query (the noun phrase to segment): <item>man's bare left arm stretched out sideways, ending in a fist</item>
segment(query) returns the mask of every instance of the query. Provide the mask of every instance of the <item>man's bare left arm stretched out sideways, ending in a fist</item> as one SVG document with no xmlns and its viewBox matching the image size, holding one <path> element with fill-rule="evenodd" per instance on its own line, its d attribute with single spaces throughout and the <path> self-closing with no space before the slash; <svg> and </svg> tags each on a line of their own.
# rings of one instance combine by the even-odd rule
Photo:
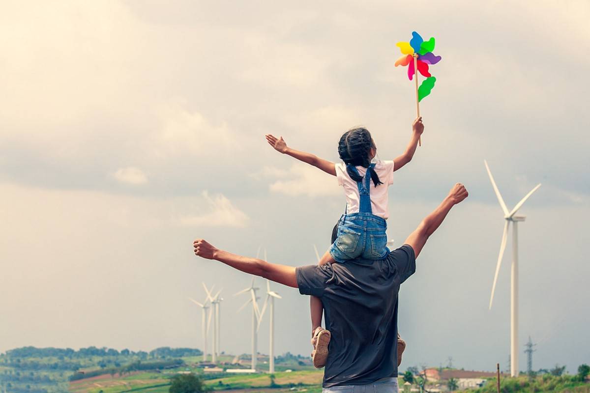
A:
<svg viewBox="0 0 590 393">
<path fill-rule="evenodd" d="M 195 249 L 195 255 L 200 257 L 215 259 L 244 273 L 260 276 L 283 285 L 297 288 L 297 278 L 293 266 L 277 265 L 276 263 L 268 263 L 262 259 L 235 255 L 224 250 L 219 250 L 203 239 L 196 239 L 193 242 L 193 247 Z"/>
</svg>

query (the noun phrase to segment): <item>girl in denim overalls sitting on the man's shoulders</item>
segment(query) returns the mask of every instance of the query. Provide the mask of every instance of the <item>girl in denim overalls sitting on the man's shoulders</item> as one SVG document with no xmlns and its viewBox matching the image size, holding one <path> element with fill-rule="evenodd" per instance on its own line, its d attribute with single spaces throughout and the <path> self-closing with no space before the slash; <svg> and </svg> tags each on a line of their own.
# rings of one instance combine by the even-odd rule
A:
<svg viewBox="0 0 590 393">
<path fill-rule="evenodd" d="M 386 219 L 389 217 L 387 187 L 392 184 L 394 171 L 414 157 L 418 139 L 424 132 L 422 118 L 412 124 L 412 138 L 401 156 L 393 161 L 371 163 L 377 153 L 375 141 L 365 128 L 353 128 L 340 137 L 338 154 L 343 164 L 323 160 L 310 153 L 287 147 L 283 137 L 268 134 L 266 140 L 275 150 L 297 160 L 311 164 L 326 173 L 336 176 L 346 196 L 345 214 L 340 217 L 337 237 L 319 264 L 344 263 L 361 257 L 383 259 L 389 254 L 387 247 Z M 313 364 L 323 367 L 327 359 L 327 344 L 330 332 L 322 328 L 322 301 L 310 298 L 312 315 Z M 405 344 L 405 343 L 404 343 Z M 404 345 L 405 346 L 405 345 Z M 401 353 L 398 353 L 398 361 Z"/>
</svg>

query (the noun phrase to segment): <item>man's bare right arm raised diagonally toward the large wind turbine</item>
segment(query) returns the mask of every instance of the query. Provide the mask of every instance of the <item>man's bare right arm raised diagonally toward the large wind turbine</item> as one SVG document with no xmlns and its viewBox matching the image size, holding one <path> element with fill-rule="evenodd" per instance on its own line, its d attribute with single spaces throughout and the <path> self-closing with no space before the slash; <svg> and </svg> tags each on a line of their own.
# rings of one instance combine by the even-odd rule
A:
<svg viewBox="0 0 590 393">
<path fill-rule="evenodd" d="M 428 216 L 418 225 L 416 230 L 408 236 L 405 244 L 412 246 L 416 258 L 422 251 L 422 247 L 426 244 L 428 237 L 437 230 L 445 217 L 447 217 L 451 207 L 466 199 L 468 195 L 469 194 L 463 184 L 455 184 L 451 191 L 449 191 L 447 197 L 442 200 L 442 203 L 438 205 L 434 212 L 428 214 Z"/>
</svg>

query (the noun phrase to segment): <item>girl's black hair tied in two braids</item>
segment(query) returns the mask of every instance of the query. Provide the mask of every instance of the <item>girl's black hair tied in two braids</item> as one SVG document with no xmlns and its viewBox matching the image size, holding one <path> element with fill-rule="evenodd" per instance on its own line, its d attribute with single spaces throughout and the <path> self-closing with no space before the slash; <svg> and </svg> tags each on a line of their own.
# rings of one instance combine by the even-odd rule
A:
<svg viewBox="0 0 590 393">
<path fill-rule="evenodd" d="M 354 181 L 363 180 L 362 176 L 359 176 L 350 168 L 350 165 L 355 167 L 362 166 L 368 169 L 371 174 L 371 180 L 373 180 L 373 184 L 377 187 L 379 184 L 383 184 L 383 182 L 379 180 L 379 176 L 377 176 L 375 170 L 369 167 L 371 165 L 369 153 L 373 147 L 375 147 L 375 143 L 373 142 L 371 133 L 366 128 L 353 128 L 352 130 L 346 131 L 340 137 L 338 154 L 340 155 L 340 159 L 346 164 L 346 173 L 348 173 L 350 179 Z"/>
</svg>

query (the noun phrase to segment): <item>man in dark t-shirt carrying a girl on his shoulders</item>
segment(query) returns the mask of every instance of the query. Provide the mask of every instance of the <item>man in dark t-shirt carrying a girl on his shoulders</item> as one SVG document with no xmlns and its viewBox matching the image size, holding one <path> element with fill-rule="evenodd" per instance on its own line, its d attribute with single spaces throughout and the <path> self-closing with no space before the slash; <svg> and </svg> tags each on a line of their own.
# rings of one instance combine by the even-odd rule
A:
<svg viewBox="0 0 590 393">
<path fill-rule="evenodd" d="M 415 272 L 415 259 L 451 208 L 466 199 L 457 183 L 442 203 L 383 260 L 292 267 L 219 250 L 203 239 L 195 254 L 235 269 L 299 288 L 322 299 L 326 329 L 332 332 L 324 371 L 324 393 L 396 393 L 399 285 Z"/>
</svg>

